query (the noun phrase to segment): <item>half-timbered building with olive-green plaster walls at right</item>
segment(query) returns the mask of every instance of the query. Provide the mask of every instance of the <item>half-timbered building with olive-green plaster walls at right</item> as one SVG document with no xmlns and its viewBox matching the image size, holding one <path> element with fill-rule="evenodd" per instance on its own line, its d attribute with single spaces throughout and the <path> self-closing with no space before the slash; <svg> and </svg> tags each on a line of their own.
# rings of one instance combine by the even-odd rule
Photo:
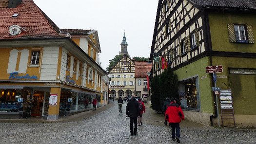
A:
<svg viewBox="0 0 256 144">
<path fill-rule="evenodd" d="M 255 5 L 254 0 L 159 0 L 152 74 L 163 71 L 157 55 L 166 57 L 177 73 L 187 119 L 215 126 L 256 126 Z M 206 71 L 208 66 L 222 70 Z M 220 91 L 215 93 L 213 87 Z"/>
</svg>

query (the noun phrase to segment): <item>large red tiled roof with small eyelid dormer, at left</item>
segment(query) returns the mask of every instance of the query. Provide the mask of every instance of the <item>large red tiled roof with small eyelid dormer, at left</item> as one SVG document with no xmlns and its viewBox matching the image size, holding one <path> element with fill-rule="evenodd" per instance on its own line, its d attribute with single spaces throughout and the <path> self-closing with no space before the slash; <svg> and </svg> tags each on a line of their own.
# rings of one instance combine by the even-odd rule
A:
<svg viewBox="0 0 256 144">
<path fill-rule="evenodd" d="M 18 17 L 12 17 L 19 14 Z M 48 18 L 33 0 L 22 0 L 16 8 L 0 7 L 0 39 L 63 37 L 59 27 Z M 10 36 L 9 27 L 19 25 L 25 31 Z"/>
</svg>

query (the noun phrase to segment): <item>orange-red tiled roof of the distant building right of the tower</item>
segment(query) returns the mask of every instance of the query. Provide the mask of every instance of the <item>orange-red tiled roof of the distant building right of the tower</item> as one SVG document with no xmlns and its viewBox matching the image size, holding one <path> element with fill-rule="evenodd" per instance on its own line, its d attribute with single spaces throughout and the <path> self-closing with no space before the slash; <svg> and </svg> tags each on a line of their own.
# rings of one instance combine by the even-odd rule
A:
<svg viewBox="0 0 256 144">
<path fill-rule="evenodd" d="M 146 61 L 135 61 L 135 78 L 147 77 L 147 72 L 151 71 L 152 65 Z"/>
</svg>

